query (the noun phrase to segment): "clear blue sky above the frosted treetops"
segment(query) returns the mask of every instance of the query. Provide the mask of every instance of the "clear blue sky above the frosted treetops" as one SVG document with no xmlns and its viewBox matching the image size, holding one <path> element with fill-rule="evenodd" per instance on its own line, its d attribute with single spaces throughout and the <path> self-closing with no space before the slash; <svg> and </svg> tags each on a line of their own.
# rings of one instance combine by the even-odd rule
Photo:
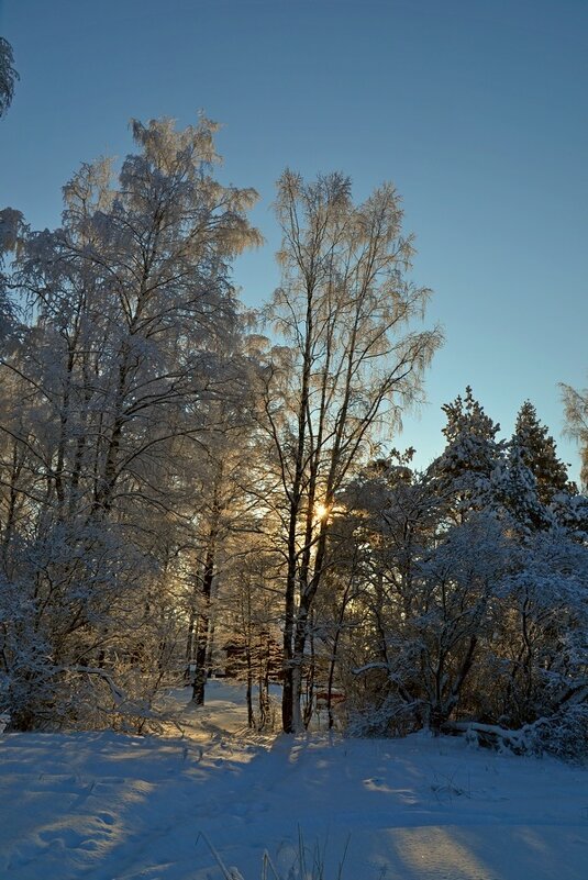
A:
<svg viewBox="0 0 588 880">
<path fill-rule="evenodd" d="M 588 370 L 588 0 L 0 0 L 21 75 L 0 122 L 0 208 L 59 222 L 81 163 L 131 148 L 129 120 L 224 124 L 225 182 L 260 194 L 267 246 L 241 258 L 248 304 L 277 283 L 274 182 L 384 180 L 417 234 L 446 343 L 397 445 L 441 452 L 467 383 L 510 433 L 525 399 L 562 436 L 557 383 Z"/>
</svg>

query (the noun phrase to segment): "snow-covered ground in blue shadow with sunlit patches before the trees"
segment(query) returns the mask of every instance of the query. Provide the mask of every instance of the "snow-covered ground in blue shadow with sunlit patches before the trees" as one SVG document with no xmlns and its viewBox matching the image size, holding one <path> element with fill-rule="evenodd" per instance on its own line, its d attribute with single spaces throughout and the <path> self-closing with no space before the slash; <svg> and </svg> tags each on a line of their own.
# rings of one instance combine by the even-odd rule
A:
<svg viewBox="0 0 588 880">
<path fill-rule="evenodd" d="M 214 681 L 178 721 L 0 736 L 2 880 L 220 880 L 207 840 L 245 880 L 264 849 L 298 877 L 299 831 L 324 880 L 347 838 L 344 880 L 588 878 L 587 770 L 426 736 L 255 738 L 242 689 Z"/>
</svg>

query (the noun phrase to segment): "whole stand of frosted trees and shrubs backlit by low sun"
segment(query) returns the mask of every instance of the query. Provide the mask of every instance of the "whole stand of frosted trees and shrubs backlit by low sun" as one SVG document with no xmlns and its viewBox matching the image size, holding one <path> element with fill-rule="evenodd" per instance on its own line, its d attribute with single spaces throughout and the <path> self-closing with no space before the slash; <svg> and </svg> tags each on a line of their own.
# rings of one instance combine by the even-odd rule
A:
<svg viewBox="0 0 588 880">
<path fill-rule="evenodd" d="M 395 187 L 285 170 L 254 312 L 257 194 L 219 182 L 217 127 L 135 121 L 59 229 L 0 212 L 7 729 L 157 731 L 159 693 L 204 704 L 231 656 L 256 729 L 320 704 L 357 736 L 588 755 L 588 498 L 548 427 L 521 401 L 502 437 L 464 365 L 417 469 L 402 415 L 443 332 Z M 563 405 L 585 488 L 588 392 Z"/>
</svg>

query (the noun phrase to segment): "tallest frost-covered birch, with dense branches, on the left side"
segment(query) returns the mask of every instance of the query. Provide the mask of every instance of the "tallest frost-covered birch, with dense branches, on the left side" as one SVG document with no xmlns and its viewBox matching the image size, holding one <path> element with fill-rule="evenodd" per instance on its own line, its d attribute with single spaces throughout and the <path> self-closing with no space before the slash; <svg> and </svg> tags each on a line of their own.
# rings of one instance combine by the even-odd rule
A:
<svg viewBox="0 0 588 880">
<path fill-rule="evenodd" d="M 1 361 L 20 401 L 1 424 L 14 725 L 104 723 L 96 706 L 121 709 L 123 692 L 144 704 L 180 637 L 195 468 L 237 372 L 230 263 L 257 241 L 255 193 L 212 174 L 214 131 L 135 122 L 137 152 L 118 174 L 84 165 L 62 227 L 21 229 L 3 276 L 30 310 Z"/>
</svg>

